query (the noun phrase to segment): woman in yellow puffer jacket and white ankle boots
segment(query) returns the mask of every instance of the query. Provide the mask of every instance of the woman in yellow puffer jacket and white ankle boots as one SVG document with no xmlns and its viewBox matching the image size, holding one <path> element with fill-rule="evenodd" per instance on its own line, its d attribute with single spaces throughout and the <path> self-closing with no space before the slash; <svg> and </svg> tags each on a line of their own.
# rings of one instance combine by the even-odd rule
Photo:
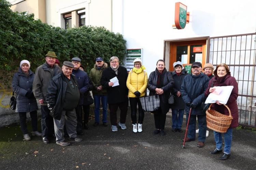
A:
<svg viewBox="0 0 256 170">
<path fill-rule="evenodd" d="M 142 132 L 142 123 L 144 119 L 144 111 L 141 106 L 139 97 L 145 95 L 147 88 L 147 73 L 144 71 L 146 68 L 142 66 L 139 58 L 133 61 L 133 69 L 129 72 L 126 81 L 126 86 L 129 89 L 129 101 L 131 106 L 131 120 L 133 125 L 133 132 Z M 139 120 L 137 126 L 137 104 L 139 106 Z M 138 128 L 138 129 L 137 129 Z"/>
</svg>

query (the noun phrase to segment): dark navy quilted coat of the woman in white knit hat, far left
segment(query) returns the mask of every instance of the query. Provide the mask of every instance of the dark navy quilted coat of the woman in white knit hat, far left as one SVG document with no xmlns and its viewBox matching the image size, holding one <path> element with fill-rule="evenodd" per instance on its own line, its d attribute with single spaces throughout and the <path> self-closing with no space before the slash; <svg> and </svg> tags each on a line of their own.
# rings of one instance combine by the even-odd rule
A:
<svg viewBox="0 0 256 170">
<path fill-rule="evenodd" d="M 37 100 L 32 91 L 33 80 L 34 73 L 30 69 L 28 78 L 24 75 L 21 68 L 14 74 L 12 89 L 18 95 L 15 112 L 32 112 L 38 110 Z M 29 98 L 25 95 L 29 96 Z"/>
</svg>

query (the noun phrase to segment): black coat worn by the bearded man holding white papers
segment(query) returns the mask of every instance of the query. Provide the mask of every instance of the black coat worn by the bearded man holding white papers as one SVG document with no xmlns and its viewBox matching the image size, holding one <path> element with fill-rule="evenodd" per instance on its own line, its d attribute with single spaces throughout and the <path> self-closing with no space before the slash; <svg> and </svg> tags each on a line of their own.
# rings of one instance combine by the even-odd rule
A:
<svg viewBox="0 0 256 170">
<path fill-rule="evenodd" d="M 110 79 L 117 77 L 119 86 L 109 87 Z M 102 71 L 100 84 L 107 89 L 108 103 L 115 104 L 128 101 L 128 88 L 126 86 L 128 73 L 127 69 L 119 65 L 118 73 L 114 72 L 111 67 Z"/>
</svg>

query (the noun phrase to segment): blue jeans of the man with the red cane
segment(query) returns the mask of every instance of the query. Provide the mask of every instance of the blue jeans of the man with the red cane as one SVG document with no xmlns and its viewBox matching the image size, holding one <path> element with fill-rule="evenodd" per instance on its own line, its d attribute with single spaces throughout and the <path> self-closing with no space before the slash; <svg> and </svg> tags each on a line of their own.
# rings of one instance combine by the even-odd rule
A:
<svg viewBox="0 0 256 170">
<path fill-rule="evenodd" d="M 187 118 L 188 118 L 188 113 L 187 113 Z M 187 137 L 190 139 L 195 139 L 196 138 L 196 119 L 198 121 L 198 128 L 199 128 L 199 133 L 198 133 L 198 141 L 199 142 L 204 142 L 206 139 L 206 115 L 190 115 L 189 118 L 189 124 L 188 124 L 188 135 Z"/>
</svg>

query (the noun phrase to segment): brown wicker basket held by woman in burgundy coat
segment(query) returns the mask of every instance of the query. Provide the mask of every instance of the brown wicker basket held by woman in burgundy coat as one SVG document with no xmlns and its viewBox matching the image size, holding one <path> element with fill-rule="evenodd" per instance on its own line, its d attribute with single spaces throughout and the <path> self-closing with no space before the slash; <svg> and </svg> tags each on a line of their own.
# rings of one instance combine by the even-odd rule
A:
<svg viewBox="0 0 256 170">
<path fill-rule="evenodd" d="M 224 104 L 224 106 L 227 107 L 229 111 L 229 116 L 223 115 L 217 111 L 212 110 L 212 104 L 206 111 L 207 127 L 219 133 L 226 133 L 233 119 L 230 109 Z"/>
</svg>

